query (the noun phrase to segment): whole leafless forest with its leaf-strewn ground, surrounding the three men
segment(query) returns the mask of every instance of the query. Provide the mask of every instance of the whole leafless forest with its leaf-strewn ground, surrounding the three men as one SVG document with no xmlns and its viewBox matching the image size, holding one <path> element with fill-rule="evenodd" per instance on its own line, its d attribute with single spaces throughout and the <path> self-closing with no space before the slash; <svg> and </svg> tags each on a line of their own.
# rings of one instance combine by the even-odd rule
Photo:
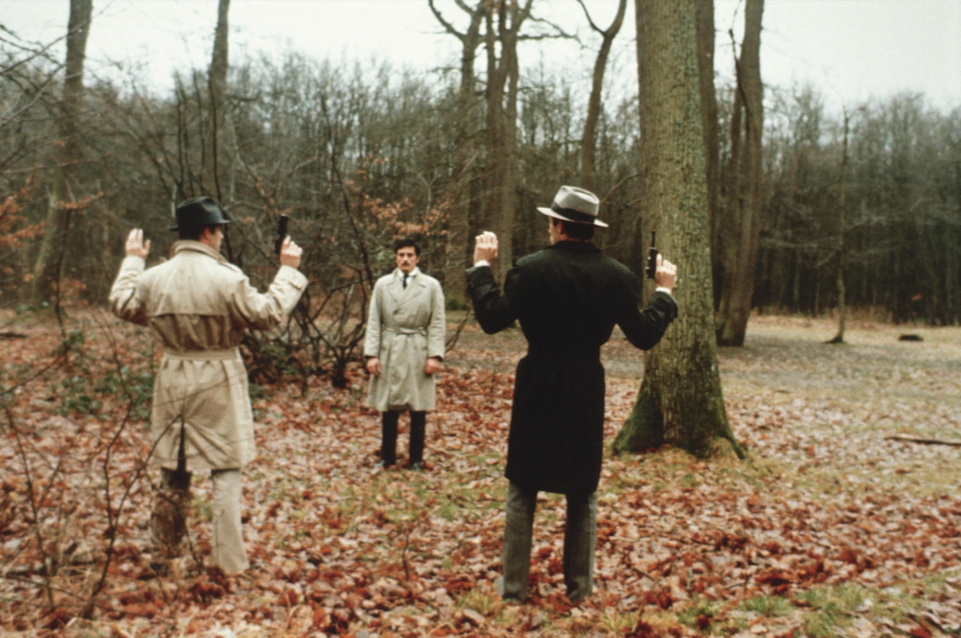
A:
<svg viewBox="0 0 961 638">
<path fill-rule="evenodd" d="M 745 2 L 729 84 L 715 79 L 715 39 L 728 36 L 712 0 L 619 0 L 609 24 L 585 9 L 589 84 L 521 57 L 520 42 L 573 37 L 545 0 L 422 1 L 458 43 L 453 68 L 232 57 L 219 0 L 209 65 L 178 71 L 168 94 L 136 74 L 85 74 L 92 0 L 70 0 L 57 41 L 0 31 L 0 457 L 15 468 L 0 482 L 0 626 L 654 636 L 758 634 L 762 619 L 771 635 L 884 625 L 920 637 L 961 626 L 961 585 L 945 576 L 961 559 L 961 504 L 946 487 L 956 472 L 938 469 L 956 466 L 956 441 L 882 437 L 956 438 L 961 423 L 957 329 L 942 328 L 961 323 L 961 109 L 897 94 L 831 111 L 818 86 L 765 86 L 763 0 Z M 635 19 L 641 90 L 610 97 L 611 43 Z M 523 344 L 513 331 L 482 340 L 464 268 L 481 230 L 501 237 L 502 277 L 542 248 L 533 209 L 559 184 L 598 193 L 611 228 L 596 241 L 639 277 L 652 232 L 682 268 L 685 314 L 644 360 L 641 400 L 639 355 L 616 340 L 605 350 L 605 440 L 616 447 L 621 424 L 643 421 L 645 388 L 689 397 L 690 411 L 625 447 L 658 454 L 606 461 L 604 595 L 572 611 L 544 537 L 537 600 L 505 608 L 492 584 L 499 470 Z M 223 252 L 261 289 L 289 215 L 309 278 L 286 326 L 244 341 L 269 425 L 244 495 L 247 579 L 205 568 L 204 496 L 194 562 L 169 578 L 147 569 L 142 426 L 156 356 L 103 308 L 129 230 L 163 258 L 173 207 L 199 195 L 228 210 Z M 369 293 L 402 236 L 422 241 L 455 320 L 429 443 L 437 467 L 411 481 L 372 474 L 375 416 L 358 399 Z M 784 314 L 795 316 L 759 316 Z M 849 316 L 854 345 L 826 346 L 831 333 L 846 341 Z M 754 347 L 738 348 L 749 320 Z M 927 343 L 898 343 L 905 323 Z M 732 348 L 719 358 L 716 345 Z M 718 437 L 746 461 L 702 454 Z M 695 515 L 700 530 L 675 528 Z"/>
</svg>

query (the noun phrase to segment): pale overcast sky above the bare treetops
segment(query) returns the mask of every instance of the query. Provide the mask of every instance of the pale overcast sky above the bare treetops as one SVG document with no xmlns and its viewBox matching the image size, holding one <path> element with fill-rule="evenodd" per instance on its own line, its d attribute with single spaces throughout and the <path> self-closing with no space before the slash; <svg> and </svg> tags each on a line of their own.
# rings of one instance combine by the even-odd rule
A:
<svg viewBox="0 0 961 638">
<path fill-rule="evenodd" d="M 445 16 L 462 24 L 452 0 L 437 0 Z M 614 0 L 587 0 L 595 22 L 606 27 Z M 731 75 L 727 31 L 740 38 L 743 2 L 715 0 L 717 69 Z M 171 73 L 209 63 L 216 0 L 94 0 L 87 70 L 115 73 L 114 63 L 146 71 L 155 90 L 171 86 Z M 62 35 L 68 0 L 0 0 L 0 24 L 18 36 L 47 41 Z M 575 0 L 539 0 L 535 14 L 579 32 L 591 49 L 573 42 L 529 43 L 527 68 L 588 78 L 591 38 Z M 613 77 L 636 89 L 633 3 L 615 44 Z M 767 85 L 809 82 L 839 109 L 869 97 L 923 92 L 942 110 L 961 106 L 961 1 L 768 0 L 761 36 L 761 75 Z M 377 58 L 401 68 L 456 66 L 459 42 L 443 34 L 427 0 L 234 0 L 230 13 L 231 60 L 293 50 L 334 60 Z M 482 52 L 481 52 L 482 56 Z M 62 58 L 62 53 L 59 54 Z M 482 59 L 478 63 L 483 68 Z"/>
</svg>

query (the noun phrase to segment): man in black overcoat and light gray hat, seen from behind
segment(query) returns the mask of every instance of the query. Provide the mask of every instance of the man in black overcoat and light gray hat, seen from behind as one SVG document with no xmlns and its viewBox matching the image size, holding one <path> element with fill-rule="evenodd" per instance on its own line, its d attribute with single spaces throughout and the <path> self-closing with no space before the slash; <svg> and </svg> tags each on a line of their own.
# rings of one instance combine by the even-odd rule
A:
<svg viewBox="0 0 961 638">
<path fill-rule="evenodd" d="M 550 209 L 551 245 L 521 258 L 506 275 L 504 294 L 490 269 L 497 236 L 481 233 L 467 271 L 474 313 L 493 334 L 520 320 L 528 354 L 517 365 L 507 438 L 505 600 L 523 601 L 530 573 L 530 537 L 537 492 L 567 497 L 564 583 L 571 601 L 593 589 L 597 488 L 604 452 L 604 366 L 601 346 L 614 324 L 630 343 L 653 348 L 678 314 L 671 295 L 676 268 L 658 256 L 651 303 L 638 308 L 640 283 L 624 264 L 590 242 L 607 225 L 598 198 L 561 186 Z"/>
</svg>

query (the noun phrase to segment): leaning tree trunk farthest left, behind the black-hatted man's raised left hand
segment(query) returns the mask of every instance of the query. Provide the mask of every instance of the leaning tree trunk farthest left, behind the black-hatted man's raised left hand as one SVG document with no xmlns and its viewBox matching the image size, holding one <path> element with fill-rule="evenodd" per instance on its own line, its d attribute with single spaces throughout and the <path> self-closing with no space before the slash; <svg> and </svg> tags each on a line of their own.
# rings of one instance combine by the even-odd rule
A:
<svg viewBox="0 0 961 638">
<path fill-rule="evenodd" d="M 34 274 L 31 280 L 31 303 L 37 305 L 43 296 L 52 276 L 51 256 L 58 237 L 66 233 L 70 221 L 70 209 L 64 202 L 77 197 L 77 165 L 81 159 L 80 118 L 84 103 L 84 61 L 86 59 L 86 37 L 90 33 L 90 18 L 93 13 L 93 0 L 70 0 L 70 17 L 67 22 L 66 37 L 66 77 L 63 80 L 63 100 L 61 104 L 61 152 L 54 189 L 50 192 L 47 214 L 43 223 L 43 237 L 34 261 Z M 62 259 L 58 260 L 62 264 Z"/>
</svg>

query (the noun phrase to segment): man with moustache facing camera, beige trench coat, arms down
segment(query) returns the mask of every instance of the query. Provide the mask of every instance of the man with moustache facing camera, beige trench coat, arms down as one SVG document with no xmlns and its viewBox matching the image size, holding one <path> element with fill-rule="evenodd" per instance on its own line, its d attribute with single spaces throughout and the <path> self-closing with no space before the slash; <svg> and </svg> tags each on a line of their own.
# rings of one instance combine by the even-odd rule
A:
<svg viewBox="0 0 961 638">
<path fill-rule="evenodd" d="M 397 462 L 397 421 L 410 410 L 409 467 L 421 469 L 427 412 L 434 407 L 434 373 L 444 358 L 444 291 L 417 268 L 420 246 L 394 244 L 397 269 L 374 284 L 364 356 L 370 372 L 367 405 L 381 410 L 381 462 Z"/>
</svg>

